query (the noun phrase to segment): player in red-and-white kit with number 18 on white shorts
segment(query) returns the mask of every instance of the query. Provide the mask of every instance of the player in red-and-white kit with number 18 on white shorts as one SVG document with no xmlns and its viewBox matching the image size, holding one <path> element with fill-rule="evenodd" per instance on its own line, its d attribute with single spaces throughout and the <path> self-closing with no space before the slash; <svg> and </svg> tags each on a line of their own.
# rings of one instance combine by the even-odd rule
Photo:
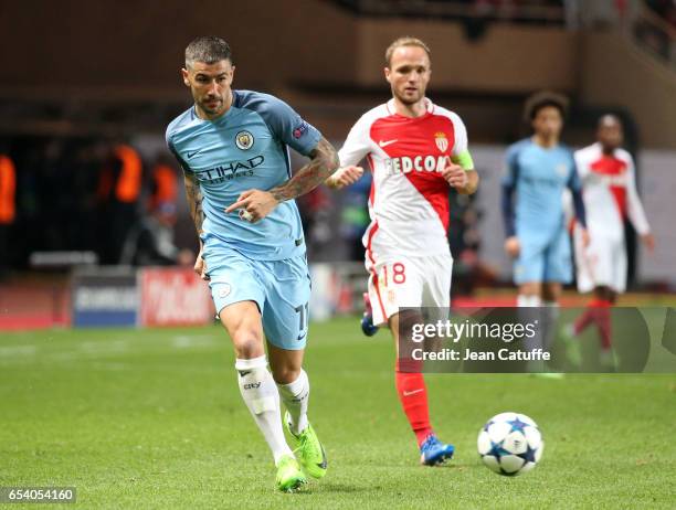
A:
<svg viewBox="0 0 676 510">
<path fill-rule="evenodd" d="M 463 121 L 425 97 L 430 75 L 424 42 L 402 38 L 388 47 L 384 76 L 392 98 L 355 124 L 338 152 L 341 169 L 327 180 L 341 188 L 361 177 L 363 170 L 355 164 L 362 158 L 371 167 L 371 224 L 363 244 L 372 322 L 389 326 L 397 349 L 400 320 L 406 319 L 400 319 L 400 308 L 450 307 L 448 188 L 468 194 L 478 184 Z M 440 464 L 453 456 L 454 447 L 440 442 L 430 425 L 422 374 L 409 373 L 411 366 L 401 361 L 398 357 L 397 392 L 421 463 Z"/>
</svg>

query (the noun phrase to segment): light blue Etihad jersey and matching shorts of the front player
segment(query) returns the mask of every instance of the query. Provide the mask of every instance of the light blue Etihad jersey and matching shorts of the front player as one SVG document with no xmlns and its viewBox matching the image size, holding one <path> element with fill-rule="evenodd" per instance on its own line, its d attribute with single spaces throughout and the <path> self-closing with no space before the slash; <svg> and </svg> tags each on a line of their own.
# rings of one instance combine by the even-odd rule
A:
<svg viewBox="0 0 676 510">
<path fill-rule="evenodd" d="M 288 147 L 308 156 L 321 135 L 286 103 L 256 92 L 233 91 L 233 104 L 215 120 L 194 107 L 167 128 L 167 145 L 183 170 L 197 177 L 204 222 L 202 258 L 216 311 L 253 301 L 270 342 L 304 349 L 310 280 L 295 201 L 279 203 L 256 223 L 225 209 L 243 191 L 270 190 L 291 178 Z"/>
</svg>

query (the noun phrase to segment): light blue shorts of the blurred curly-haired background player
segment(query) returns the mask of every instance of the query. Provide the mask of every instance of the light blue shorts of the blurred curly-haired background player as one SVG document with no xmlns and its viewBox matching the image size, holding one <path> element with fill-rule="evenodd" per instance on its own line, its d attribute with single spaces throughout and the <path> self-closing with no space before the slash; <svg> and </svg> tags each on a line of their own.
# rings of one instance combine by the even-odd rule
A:
<svg viewBox="0 0 676 510">
<path fill-rule="evenodd" d="M 519 256 L 514 264 L 514 283 L 553 281 L 569 284 L 572 280 L 570 238 L 564 229 L 553 236 L 540 232 L 519 230 Z"/>
</svg>

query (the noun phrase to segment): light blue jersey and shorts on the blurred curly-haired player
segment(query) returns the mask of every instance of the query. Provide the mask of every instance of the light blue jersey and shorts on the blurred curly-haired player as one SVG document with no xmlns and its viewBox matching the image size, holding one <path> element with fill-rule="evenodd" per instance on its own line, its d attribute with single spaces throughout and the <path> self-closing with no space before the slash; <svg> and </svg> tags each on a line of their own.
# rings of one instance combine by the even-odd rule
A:
<svg viewBox="0 0 676 510">
<path fill-rule="evenodd" d="M 509 147 L 503 214 L 507 235 L 516 235 L 520 245 L 514 266 L 516 284 L 571 280 L 570 240 L 563 214 L 566 188 L 580 199 L 581 185 L 570 149 L 561 145 L 543 148 L 529 138 Z M 578 216 L 583 221 L 582 209 Z"/>
</svg>

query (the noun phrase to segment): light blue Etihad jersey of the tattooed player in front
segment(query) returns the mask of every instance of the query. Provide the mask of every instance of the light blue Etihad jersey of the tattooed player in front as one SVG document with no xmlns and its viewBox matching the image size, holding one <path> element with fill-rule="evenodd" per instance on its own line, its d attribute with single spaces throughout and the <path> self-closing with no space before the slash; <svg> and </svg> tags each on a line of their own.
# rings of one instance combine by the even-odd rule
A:
<svg viewBox="0 0 676 510">
<path fill-rule="evenodd" d="M 233 104 L 215 120 L 194 107 L 167 128 L 167 146 L 183 171 L 197 176 L 202 191 L 203 241 L 215 237 L 226 247 L 258 261 L 305 254 L 295 201 L 279 203 L 266 217 L 250 223 L 225 208 L 243 191 L 270 190 L 291 178 L 288 147 L 308 156 L 321 135 L 274 96 L 233 91 Z"/>
</svg>

